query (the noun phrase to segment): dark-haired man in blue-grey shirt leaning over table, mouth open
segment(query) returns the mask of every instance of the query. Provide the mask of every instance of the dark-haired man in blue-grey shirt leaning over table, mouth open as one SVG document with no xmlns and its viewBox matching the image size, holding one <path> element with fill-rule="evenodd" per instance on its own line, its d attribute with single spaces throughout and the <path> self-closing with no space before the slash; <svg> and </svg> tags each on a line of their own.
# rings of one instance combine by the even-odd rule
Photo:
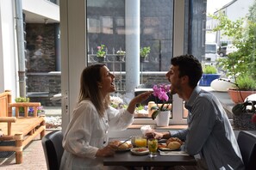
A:
<svg viewBox="0 0 256 170">
<path fill-rule="evenodd" d="M 219 100 L 197 86 L 202 65 L 192 55 L 172 58 L 166 78 L 171 93 L 185 101 L 189 111 L 188 128 L 181 131 L 153 132 L 147 137 L 178 137 L 185 141 L 184 150 L 195 155 L 201 169 L 244 169 L 240 149 L 226 112 Z"/>
</svg>

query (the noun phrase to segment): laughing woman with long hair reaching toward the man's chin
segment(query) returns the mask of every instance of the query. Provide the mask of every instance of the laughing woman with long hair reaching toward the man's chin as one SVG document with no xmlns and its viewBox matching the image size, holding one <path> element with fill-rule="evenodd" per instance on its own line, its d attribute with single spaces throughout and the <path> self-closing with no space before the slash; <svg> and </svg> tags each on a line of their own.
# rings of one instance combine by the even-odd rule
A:
<svg viewBox="0 0 256 170">
<path fill-rule="evenodd" d="M 115 154 L 108 131 L 125 130 L 133 122 L 136 104 L 151 92 L 136 96 L 127 110 L 109 106 L 109 94 L 116 91 L 115 76 L 104 64 L 85 68 L 80 80 L 78 104 L 72 113 L 63 139 L 65 149 L 60 169 L 107 169 L 102 157 Z"/>
</svg>

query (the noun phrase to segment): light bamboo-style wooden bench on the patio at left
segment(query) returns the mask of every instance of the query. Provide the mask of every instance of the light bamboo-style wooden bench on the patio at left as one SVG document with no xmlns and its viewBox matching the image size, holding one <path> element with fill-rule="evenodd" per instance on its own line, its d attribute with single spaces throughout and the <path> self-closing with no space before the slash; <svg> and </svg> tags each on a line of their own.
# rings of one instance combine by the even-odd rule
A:
<svg viewBox="0 0 256 170">
<path fill-rule="evenodd" d="M 6 90 L 0 94 L 0 129 L 2 141 L 15 141 L 15 146 L 0 146 L 1 151 L 15 151 L 16 163 L 22 163 L 22 151 L 34 137 L 45 136 L 46 123 L 44 116 L 37 116 L 37 107 L 40 102 L 11 103 L 11 93 Z M 16 108 L 16 116 L 12 116 L 12 108 Z M 24 107 L 24 116 L 20 115 L 19 108 Z M 28 108 L 33 107 L 34 113 L 28 116 Z"/>
</svg>

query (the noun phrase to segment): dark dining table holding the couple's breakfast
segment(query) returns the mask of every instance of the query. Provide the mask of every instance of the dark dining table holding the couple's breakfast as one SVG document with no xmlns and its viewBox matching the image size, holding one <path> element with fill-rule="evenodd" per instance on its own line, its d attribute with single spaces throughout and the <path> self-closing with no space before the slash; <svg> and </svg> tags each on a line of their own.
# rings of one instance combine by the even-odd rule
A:
<svg viewBox="0 0 256 170">
<path fill-rule="evenodd" d="M 165 152 L 163 152 L 163 154 L 165 154 Z M 126 150 L 116 152 L 114 156 L 103 158 L 103 165 L 123 167 L 174 167 L 196 166 L 197 161 L 194 156 L 186 154 L 160 155 L 158 151 L 157 156 L 151 158 L 147 154 L 134 155 L 130 150 Z"/>
</svg>

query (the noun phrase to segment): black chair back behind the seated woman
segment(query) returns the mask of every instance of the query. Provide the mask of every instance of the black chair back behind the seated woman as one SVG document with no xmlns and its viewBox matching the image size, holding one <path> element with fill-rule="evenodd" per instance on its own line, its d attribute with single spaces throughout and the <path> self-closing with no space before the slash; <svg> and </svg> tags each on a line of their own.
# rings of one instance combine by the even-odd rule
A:
<svg viewBox="0 0 256 170">
<path fill-rule="evenodd" d="M 49 170 L 59 169 L 64 151 L 64 148 L 62 147 L 62 139 L 62 131 L 52 131 L 41 139 L 47 161 L 47 169 Z"/>
</svg>

